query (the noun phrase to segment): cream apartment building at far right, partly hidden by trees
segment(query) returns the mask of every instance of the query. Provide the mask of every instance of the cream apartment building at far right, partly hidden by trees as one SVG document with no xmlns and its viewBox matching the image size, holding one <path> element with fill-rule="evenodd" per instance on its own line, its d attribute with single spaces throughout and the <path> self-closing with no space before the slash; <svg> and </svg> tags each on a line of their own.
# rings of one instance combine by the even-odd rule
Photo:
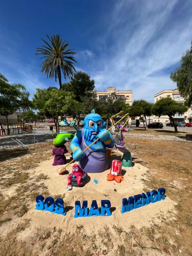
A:
<svg viewBox="0 0 192 256">
<path fill-rule="evenodd" d="M 172 100 L 175 100 L 176 102 L 180 104 L 184 104 L 185 99 L 181 96 L 180 92 L 178 89 L 174 90 L 163 90 L 161 92 L 158 92 L 157 94 L 154 95 L 154 103 L 157 100 L 160 100 L 161 98 L 172 98 Z M 192 106 L 188 108 L 187 112 L 184 114 L 176 114 L 173 116 L 175 122 L 192 122 Z M 170 122 L 168 116 L 153 116 L 153 122 L 162 122 L 162 123 L 167 123 Z"/>
</svg>

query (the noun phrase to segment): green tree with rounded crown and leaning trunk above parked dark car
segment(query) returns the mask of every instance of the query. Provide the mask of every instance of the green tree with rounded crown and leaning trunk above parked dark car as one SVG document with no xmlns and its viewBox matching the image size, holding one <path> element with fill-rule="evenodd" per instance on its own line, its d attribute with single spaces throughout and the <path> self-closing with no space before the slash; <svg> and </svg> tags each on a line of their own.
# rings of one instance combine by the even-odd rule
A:
<svg viewBox="0 0 192 256">
<path fill-rule="evenodd" d="M 178 132 L 177 126 L 174 122 L 173 116 L 175 114 L 184 114 L 187 111 L 187 107 L 172 100 L 171 98 L 161 98 L 152 107 L 152 114 L 156 116 L 168 116 L 173 123 L 175 132 Z"/>
</svg>

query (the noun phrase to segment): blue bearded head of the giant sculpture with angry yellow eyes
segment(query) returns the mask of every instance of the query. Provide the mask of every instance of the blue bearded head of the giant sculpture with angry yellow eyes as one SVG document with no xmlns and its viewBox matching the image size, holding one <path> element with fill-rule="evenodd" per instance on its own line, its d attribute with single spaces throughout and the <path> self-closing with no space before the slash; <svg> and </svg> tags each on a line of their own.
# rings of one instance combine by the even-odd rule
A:
<svg viewBox="0 0 192 256">
<path fill-rule="evenodd" d="M 98 138 L 97 134 L 104 129 L 101 116 L 92 110 L 91 114 L 85 117 L 84 122 L 84 139 L 90 142 L 95 141 Z"/>
</svg>

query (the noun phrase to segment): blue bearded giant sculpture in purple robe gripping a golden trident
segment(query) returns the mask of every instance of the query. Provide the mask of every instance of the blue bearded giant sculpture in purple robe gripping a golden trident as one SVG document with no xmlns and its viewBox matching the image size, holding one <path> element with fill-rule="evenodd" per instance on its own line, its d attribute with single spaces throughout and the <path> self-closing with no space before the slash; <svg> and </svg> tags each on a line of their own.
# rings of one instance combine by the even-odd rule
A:
<svg viewBox="0 0 192 256">
<path fill-rule="evenodd" d="M 95 114 L 94 110 L 84 118 L 84 123 L 84 127 L 75 134 L 70 143 L 73 159 L 79 161 L 80 168 L 85 172 L 104 172 L 108 168 L 106 147 L 114 147 L 113 137 L 105 129 L 101 116 Z M 83 152 L 98 138 L 98 141 Z"/>
</svg>

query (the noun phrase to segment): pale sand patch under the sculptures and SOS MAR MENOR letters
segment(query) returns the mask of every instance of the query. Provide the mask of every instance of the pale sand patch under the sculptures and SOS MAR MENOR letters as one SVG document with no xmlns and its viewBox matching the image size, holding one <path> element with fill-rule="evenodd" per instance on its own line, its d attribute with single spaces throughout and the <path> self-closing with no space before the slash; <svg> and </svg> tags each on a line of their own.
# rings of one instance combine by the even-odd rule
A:
<svg viewBox="0 0 192 256">
<path fill-rule="evenodd" d="M 118 156 L 120 156 L 121 153 L 114 151 L 114 154 L 112 155 L 111 160 L 115 158 L 118 159 Z M 70 161 L 70 154 L 66 154 L 66 158 Z M 121 214 L 122 198 L 128 198 L 129 196 L 145 192 L 142 180 L 147 178 L 148 169 L 141 164 L 135 164 L 131 169 L 123 168 L 122 174 L 124 175 L 124 181 L 120 184 L 114 181 L 107 181 L 106 176 L 109 173 L 109 170 L 106 170 L 101 174 L 88 174 L 90 176 L 90 181 L 83 188 L 74 187 L 72 190 L 66 192 L 66 175 L 58 175 L 57 169 L 61 166 L 52 166 L 52 162 L 53 157 L 41 162 L 40 166 L 33 170 L 32 176 L 36 176 L 37 174 L 48 175 L 49 179 L 44 180 L 44 184 L 48 187 L 50 196 L 55 200 L 56 195 L 63 195 L 64 206 L 67 210 L 66 216 L 36 210 L 36 202 L 34 202 L 33 207 L 31 207 L 24 216 L 24 218 L 31 219 L 31 224 L 34 227 L 56 227 L 73 232 L 77 225 L 83 225 L 86 234 L 91 234 L 92 230 L 97 231 L 105 225 L 108 225 L 113 233 L 115 231 L 112 228 L 112 225 L 121 226 L 125 231 L 128 231 L 133 224 L 137 228 L 141 228 L 142 226 L 150 226 L 152 223 L 160 223 L 162 216 L 165 218 L 169 215 L 169 218 L 173 218 L 174 202 L 168 197 L 166 197 L 166 200 Z M 70 164 L 67 168 L 69 172 L 72 170 L 72 165 L 73 164 Z M 138 169 L 138 166 L 140 169 Z M 94 183 L 94 179 L 98 180 L 98 184 Z M 114 191 L 114 189 L 117 191 Z M 151 188 L 151 190 L 153 189 L 157 190 L 158 188 Z M 108 199 L 111 202 L 113 210 L 112 216 L 74 218 L 75 200 L 80 200 L 81 202 L 83 200 L 88 200 L 88 207 L 90 207 L 92 200 L 97 200 L 98 207 L 100 207 L 100 200 L 104 199 Z M 172 211 L 172 216 L 170 216 L 170 212 L 168 213 L 168 211 Z"/>
</svg>

